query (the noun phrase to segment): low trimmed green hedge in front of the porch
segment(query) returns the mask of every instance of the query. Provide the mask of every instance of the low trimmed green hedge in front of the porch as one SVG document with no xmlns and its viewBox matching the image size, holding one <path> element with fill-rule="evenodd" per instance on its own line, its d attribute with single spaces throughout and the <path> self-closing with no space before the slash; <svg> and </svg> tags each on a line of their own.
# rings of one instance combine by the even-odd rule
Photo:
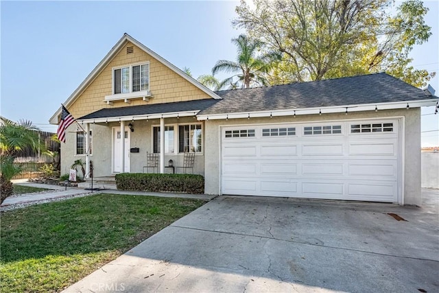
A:
<svg viewBox="0 0 439 293">
<path fill-rule="evenodd" d="M 122 173 L 116 175 L 116 185 L 121 190 L 204 194 L 204 177 L 194 174 Z"/>
</svg>

